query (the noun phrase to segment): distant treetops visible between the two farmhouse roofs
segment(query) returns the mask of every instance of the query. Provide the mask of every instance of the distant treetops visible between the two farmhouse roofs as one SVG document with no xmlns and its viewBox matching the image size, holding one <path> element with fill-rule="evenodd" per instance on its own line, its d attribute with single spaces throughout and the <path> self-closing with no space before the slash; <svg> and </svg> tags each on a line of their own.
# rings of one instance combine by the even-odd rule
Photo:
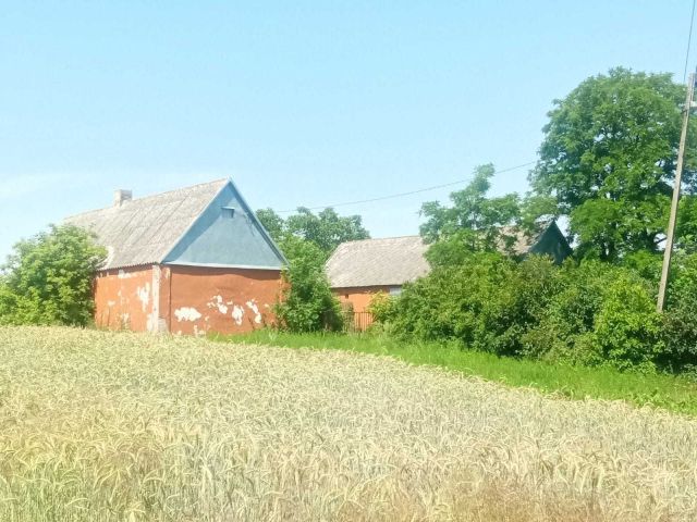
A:
<svg viewBox="0 0 697 522">
<path fill-rule="evenodd" d="M 257 217 L 273 240 L 283 243 L 288 236 L 299 237 L 317 246 L 325 257 L 344 241 L 370 237 L 359 215 L 341 216 L 331 208 L 314 214 L 301 207 L 285 220 L 272 209 L 261 209 L 257 211 Z"/>
</svg>

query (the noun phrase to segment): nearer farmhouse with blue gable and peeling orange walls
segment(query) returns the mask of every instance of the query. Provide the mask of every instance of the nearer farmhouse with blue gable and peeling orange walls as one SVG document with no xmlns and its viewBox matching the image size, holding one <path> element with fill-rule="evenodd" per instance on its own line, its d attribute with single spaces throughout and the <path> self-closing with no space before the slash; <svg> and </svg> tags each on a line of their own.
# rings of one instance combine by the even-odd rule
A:
<svg viewBox="0 0 697 522">
<path fill-rule="evenodd" d="M 272 320 L 283 254 L 229 179 L 133 199 L 65 220 L 97 235 L 97 325 L 236 333 Z"/>
</svg>

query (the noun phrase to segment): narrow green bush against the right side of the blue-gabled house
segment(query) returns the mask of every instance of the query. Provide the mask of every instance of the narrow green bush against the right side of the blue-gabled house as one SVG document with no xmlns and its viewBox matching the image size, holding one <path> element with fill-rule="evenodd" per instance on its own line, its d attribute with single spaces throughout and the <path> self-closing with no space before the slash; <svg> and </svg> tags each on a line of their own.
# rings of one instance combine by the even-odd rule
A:
<svg viewBox="0 0 697 522">
<path fill-rule="evenodd" d="M 285 238 L 281 249 L 290 265 L 283 272 L 284 288 L 276 307 L 279 326 L 297 333 L 341 330 L 341 306 L 323 270 L 326 253 L 294 236 Z"/>
</svg>

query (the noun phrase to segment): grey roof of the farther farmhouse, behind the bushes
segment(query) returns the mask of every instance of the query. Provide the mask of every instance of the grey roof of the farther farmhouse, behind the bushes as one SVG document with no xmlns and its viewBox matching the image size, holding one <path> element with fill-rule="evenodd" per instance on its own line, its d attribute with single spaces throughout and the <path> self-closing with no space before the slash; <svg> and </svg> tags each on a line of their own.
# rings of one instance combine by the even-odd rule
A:
<svg viewBox="0 0 697 522">
<path fill-rule="evenodd" d="M 426 275 L 428 246 L 420 236 L 342 243 L 327 261 L 332 288 L 400 286 Z"/>
</svg>

